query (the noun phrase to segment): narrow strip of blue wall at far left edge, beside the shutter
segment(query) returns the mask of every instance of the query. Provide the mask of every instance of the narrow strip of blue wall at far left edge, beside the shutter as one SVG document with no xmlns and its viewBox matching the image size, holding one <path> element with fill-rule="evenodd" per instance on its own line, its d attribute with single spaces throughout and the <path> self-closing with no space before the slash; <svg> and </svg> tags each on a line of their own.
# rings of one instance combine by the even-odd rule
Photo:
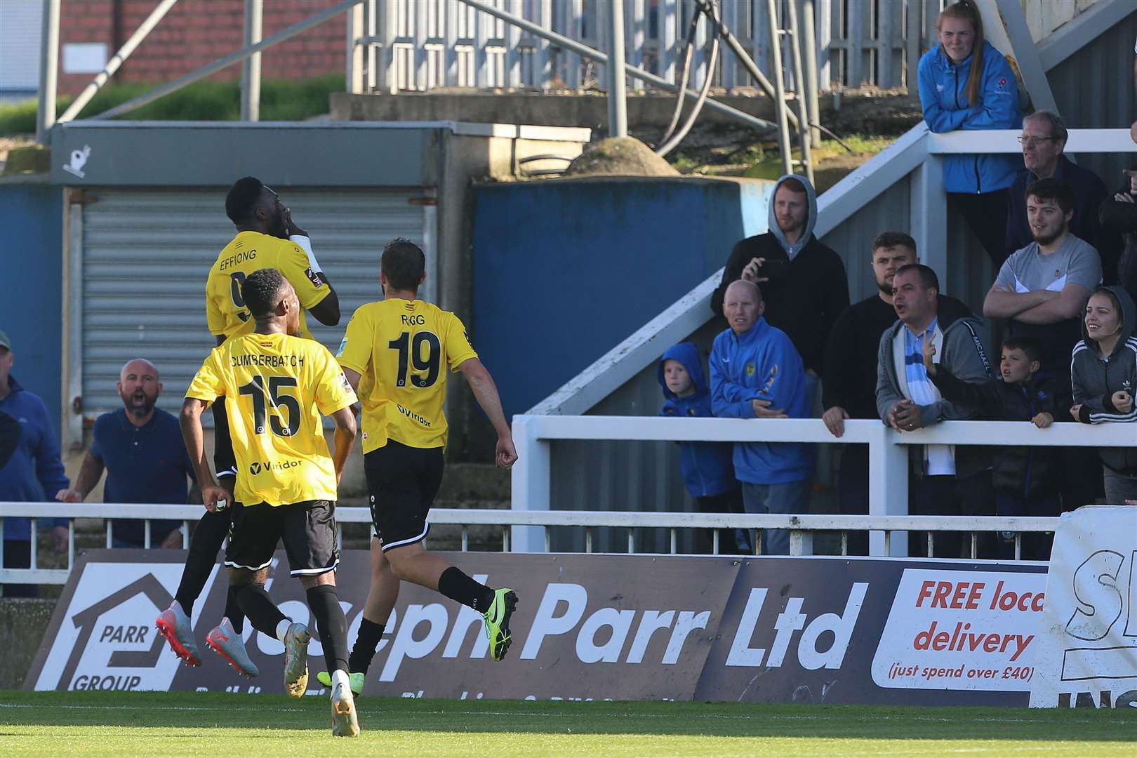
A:
<svg viewBox="0 0 1137 758">
<path fill-rule="evenodd" d="M 8 333 L 11 373 L 43 398 L 59 426 L 63 388 L 63 190 L 0 183 L 0 330 Z"/>
</svg>

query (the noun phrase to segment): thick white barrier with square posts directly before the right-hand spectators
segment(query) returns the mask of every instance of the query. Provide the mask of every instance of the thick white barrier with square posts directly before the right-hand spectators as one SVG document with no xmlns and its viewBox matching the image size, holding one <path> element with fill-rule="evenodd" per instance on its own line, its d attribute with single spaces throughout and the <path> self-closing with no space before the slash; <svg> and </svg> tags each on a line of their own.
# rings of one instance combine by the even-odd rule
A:
<svg viewBox="0 0 1137 758">
<path fill-rule="evenodd" d="M 549 509 L 553 473 L 550 443 L 555 440 L 868 444 L 870 516 L 864 523 L 877 524 L 879 522 L 874 519 L 878 518 L 907 517 L 907 445 L 1137 447 L 1137 424 L 1090 426 L 1060 422 L 1040 430 L 1030 422 L 943 422 L 924 430 L 899 433 L 878 420 L 850 419 L 845 422 L 844 436 L 837 439 L 829 433 L 823 422 L 814 418 L 514 416 L 513 439 L 518 455 L 517 463 L 513 467 L 513 508 L 529 511 Z M 636 516 L 645 517 L 649 514 L 636 514 Z M 990 520 L 991 518 L 974 517 L 961 523 L 966 524 L 964 531 L 995 531 L 996 527 L 993 526 L 995 522 Z M 520 550 L 540 551 L 542 535 L 539 530 L 518 525 L 513 531 L 514 544 Z M 886 534 L 871 532 L 870 553 L 905 556 L 906 535 L 891 540 Z"/>
</svg>

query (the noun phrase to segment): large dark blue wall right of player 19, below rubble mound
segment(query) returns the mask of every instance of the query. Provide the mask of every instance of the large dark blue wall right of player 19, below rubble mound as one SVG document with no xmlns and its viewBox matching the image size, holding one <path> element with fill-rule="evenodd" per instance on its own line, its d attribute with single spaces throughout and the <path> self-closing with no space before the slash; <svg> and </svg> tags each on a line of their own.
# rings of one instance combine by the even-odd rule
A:
<svg viewBox="0 0 1137 758">
<path fill-rule="evenodd" d="M 772 186 L 616 177 L 476 188 L 474 347 L 506 416 L 543 400 L 721 268 L 738 240 L 764 232 Z"/>
</svg>

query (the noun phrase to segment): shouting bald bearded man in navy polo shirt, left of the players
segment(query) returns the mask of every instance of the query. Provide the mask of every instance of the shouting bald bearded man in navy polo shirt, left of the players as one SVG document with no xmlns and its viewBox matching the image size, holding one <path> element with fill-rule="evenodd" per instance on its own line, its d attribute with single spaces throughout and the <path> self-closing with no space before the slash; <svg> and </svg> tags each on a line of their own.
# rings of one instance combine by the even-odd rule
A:
<svg viewBox="0 0 1137 758">
<path fill-rule="evenodd" d="M 123 366 L 118 374 L 123 410 L 96 419 L 91 449 L 83 456 L 75 486 L 58 492 L 57 500 L 82 502 L 106 469 L 103 502 L 186 502 L 193 466 L 177 419 L 155 408 L 159 394 L 161 381 L 153 364 L 135 358 Z M 110 525 L 114 547 L 146 547 L 143 520 L 114 519 Z M 182 547 L 179 526 L 176 520 L 150 522 L 150 545 Z"/>
</svg>

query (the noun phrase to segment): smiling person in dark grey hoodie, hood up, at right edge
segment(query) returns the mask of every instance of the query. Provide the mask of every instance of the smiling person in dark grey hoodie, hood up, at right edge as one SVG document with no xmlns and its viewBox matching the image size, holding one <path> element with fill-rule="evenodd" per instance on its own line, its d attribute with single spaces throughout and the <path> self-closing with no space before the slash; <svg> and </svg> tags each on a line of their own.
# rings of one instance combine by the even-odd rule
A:
<svg viewBox="0 0 1137 758">
<path fill-rule="evenodd" d="M 1070 363 L 1074 419 L 1084 424 L 1137 422 L 1137 307 L 1120 286 L 1094 290 Z M 1137 433 L 1135 433 L 1137 439 Z M 1110 505 L 1137 506 L 1137 448 L 1098 448 Z"/>
</svg>

